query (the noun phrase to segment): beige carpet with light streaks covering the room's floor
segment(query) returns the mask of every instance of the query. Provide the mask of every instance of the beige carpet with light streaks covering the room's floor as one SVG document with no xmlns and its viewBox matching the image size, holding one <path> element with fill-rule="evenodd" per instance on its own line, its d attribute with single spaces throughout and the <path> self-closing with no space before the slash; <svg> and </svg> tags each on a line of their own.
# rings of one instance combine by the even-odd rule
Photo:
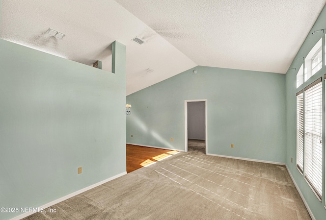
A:
<svg viewBox="0 0 326 220">
<path fill-rule="evenodd" d="M 25 219 L 311 219 L 285 166 L 189 148 Z"/>
</svg>

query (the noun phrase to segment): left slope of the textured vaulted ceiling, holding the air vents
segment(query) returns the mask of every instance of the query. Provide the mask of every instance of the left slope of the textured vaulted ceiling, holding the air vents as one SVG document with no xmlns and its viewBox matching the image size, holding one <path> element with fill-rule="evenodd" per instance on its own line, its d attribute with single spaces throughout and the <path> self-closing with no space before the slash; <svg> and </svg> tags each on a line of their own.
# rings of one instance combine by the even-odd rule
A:
<svg viewBox="0 0 326 220">
<path fill-rule="evenodd" d="M 127 48 L 126 94 L 197 66 L 144 22 L 111 0 L 1 0 L 1 38 L 111 71 L 110 45 Z M 66 36 L 46 34 L 48 28 Z M 142 38 L 139 45 L 131 41 Z M 146 69 L 153 69 L 147 72 Z"/>
</svg>

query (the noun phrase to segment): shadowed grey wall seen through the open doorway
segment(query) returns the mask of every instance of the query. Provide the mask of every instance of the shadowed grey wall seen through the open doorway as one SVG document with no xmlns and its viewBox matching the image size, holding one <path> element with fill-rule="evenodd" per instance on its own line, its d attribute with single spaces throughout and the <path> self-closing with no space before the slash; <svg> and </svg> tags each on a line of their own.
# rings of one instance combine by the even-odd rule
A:
<svg viewBox="0 0 326 220">
<path fill-rule="evenodd" d="M 205 140 L 205 102 L 188 102 L 188 139 Z"/>
</svg>

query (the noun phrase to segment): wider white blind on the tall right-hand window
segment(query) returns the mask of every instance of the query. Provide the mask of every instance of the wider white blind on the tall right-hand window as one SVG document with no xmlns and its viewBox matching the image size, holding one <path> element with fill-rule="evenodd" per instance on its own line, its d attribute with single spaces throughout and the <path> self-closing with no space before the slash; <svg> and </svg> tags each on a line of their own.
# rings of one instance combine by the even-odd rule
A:
<svg viewBox="0 0 326 220">
<path fill-rule="evenodd" d="M 321 80 L 320 80 L 321 81 Z M 322 83 L 305 89 L 305 176 L 316 193 L 322 194 Z"/>
</svg>

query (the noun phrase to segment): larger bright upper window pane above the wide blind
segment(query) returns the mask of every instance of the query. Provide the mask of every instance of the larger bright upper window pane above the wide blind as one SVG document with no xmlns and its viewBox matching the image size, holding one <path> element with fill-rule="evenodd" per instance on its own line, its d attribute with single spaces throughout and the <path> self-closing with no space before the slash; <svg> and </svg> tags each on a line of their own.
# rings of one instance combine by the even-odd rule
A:
<svg viewBox="0 0 326 220">
<path fill-rule="evenodd" d="M 305 82 L 321 69 L 321 38 L 305 58 Z"/>
</svg>

